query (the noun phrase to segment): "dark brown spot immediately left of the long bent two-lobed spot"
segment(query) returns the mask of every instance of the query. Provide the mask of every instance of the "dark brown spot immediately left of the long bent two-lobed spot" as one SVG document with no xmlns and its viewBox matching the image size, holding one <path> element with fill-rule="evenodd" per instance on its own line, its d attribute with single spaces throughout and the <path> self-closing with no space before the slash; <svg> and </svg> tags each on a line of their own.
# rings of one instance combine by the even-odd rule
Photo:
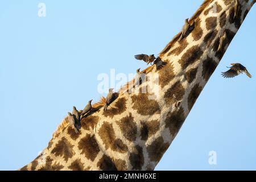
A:
<svg viewBox="0 0 256 182">
<path fill-rule="evenodd" d="M 100 152 L 100 147 L 98 147 L 97 140 L 94 135 L 87 134 L 84 138 L 82 138 L 79 142 L 79 150 L 81 150 L 81 154 L 84 154 L 85 157 L 89 160 L 94 161 L 98 152 Z"/>
</svg>

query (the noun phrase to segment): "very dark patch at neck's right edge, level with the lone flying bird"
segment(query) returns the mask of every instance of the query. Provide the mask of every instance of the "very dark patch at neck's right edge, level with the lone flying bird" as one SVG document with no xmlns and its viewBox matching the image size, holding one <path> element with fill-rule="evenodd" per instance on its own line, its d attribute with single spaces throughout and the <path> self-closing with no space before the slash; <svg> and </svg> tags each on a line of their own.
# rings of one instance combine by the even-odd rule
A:
<svg viewBox="0 0 256 182">
<path fill-rule="evenodd" d="M 202 76 L 204 77 L 204 80 L 208 81 L 212 73 L 215 71 L 217 67 L 217 63 L 215 61 L 207 56 L 207 59 L 203 61 L 203 71 Z"/>
</svg>

